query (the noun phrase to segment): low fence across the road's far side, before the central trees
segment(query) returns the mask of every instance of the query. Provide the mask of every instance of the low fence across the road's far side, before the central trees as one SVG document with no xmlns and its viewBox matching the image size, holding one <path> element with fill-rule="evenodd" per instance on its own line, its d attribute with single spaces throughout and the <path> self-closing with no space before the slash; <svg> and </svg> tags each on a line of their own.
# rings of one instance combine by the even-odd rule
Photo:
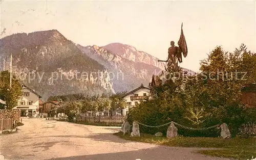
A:
<svg viewBox="0 0 256 160">
<path fill-rule="evenodd" d="M 95 122 L 103 122 L 103 123 L 123 123 L 125 120 L 124 116 L 84 116 L 83 114 L 78 114 L 76 116 L 76 121 L 77 122 L 90 122 L 90 123 L 95 123 Z"/>
</svg>

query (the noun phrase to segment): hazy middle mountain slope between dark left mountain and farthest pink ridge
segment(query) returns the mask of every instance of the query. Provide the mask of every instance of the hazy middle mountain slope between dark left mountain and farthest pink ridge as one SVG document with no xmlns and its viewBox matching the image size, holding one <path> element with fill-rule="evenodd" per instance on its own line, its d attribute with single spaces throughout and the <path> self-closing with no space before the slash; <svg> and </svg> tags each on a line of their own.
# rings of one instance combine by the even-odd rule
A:
<svg viewBox="0 0 256 160">
<path fill-rule="evenodd" d="M 139 87 L 141 83 L 147 86 L 152 75 L 161 71 L 154 65 L 131 61 L 97 45 L 84 47 L 78 44 L 77 47 L 108 70 L 113 88 L 117 92 L 130 91 Z"/>
</svg>

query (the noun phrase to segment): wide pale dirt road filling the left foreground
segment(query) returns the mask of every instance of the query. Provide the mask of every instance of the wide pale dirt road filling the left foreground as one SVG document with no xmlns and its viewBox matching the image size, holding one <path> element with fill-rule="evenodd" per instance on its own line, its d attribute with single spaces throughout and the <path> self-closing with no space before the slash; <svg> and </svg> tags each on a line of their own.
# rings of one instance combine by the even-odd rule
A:
<svg viewBox="0 0 256 160">
<path fill-rule="evenodd" d="M 6 159 L 209 159 L 196 148 L 157 146 L 122 140 L 120 127 L 102 127 L 44 119 L 23 119 L 15 134 L 0 136 Z"/>
</svg>

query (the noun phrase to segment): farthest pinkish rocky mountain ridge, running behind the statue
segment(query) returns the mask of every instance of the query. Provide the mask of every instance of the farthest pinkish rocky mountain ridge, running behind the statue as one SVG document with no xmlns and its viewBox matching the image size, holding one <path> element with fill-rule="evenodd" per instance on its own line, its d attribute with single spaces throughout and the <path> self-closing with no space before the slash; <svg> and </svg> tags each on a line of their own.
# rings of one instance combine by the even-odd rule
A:
<svg viewBox="0 0 256 160">
<path fill-rule="evenodd" d="M 107 49 L 116 55 L 125 58 L 127 60 L 133 61 L 135 63 L 142 62 L 148 65 L 156 66 L 162 70 L 164 70 L 164 66 L 166 66 L 165 62 L 158 62 L 158 58 L 147 54 L 144 51 L 137 50 L 134 46 L 122 44 L 122 43 L 110 43 L 108 45 L 102 46 L 102 48 Z M 183 68 L 183 71 L 188 72 L 188 74 L 195 74 L 194 71 Z"/>
</svg>

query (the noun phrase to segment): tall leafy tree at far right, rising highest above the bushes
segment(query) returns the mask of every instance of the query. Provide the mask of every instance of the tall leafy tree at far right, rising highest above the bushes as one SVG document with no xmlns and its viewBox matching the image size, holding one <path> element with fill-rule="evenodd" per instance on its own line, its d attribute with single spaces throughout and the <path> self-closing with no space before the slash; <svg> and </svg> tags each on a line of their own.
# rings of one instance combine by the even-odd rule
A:
<svg viewBox="0 0 256 160">
<path fill-rule="evenodd" d="M 209 104 L 205 107 L 211 113 L 208 123 L 225 122 L 231 127 L 232 135 L 237 134 L 244 123 L 241 89 L 245 84 L 255 82 L 253 68 L 256 68 L 255 54 L 247 51 L 244 44 L 232 53 L 217 46 L 201 62 L 200 70 L 207 77 L 204 87 Z"/>
</svg>

